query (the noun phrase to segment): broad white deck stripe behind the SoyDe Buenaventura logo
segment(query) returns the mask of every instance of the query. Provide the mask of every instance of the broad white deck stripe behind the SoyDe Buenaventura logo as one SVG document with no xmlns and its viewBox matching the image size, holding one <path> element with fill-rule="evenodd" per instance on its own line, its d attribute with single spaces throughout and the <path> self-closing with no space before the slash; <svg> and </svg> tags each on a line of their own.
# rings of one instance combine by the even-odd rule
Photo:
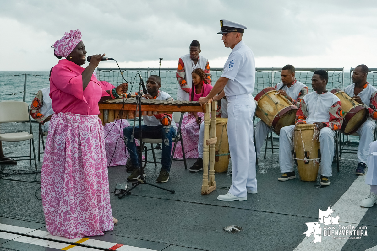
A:
<svg viewBox="0 0 377 251">
<path fill-rule="evenodd" d="M 339 214 L 339 224 L 340 225 L 359 225 L 361 219 L 364 217 L 364 214 L 368 208 L 360 207 L 360 202 L 362 199 L 366 198 L 369 194 L 370 186 L 365 184 L 365 176 L 359 176 L 348 190 L 339 198 L 339 200 L 331 207 L 334 210 L 333 216 L 336 216 L 335 213 Z M 320 208 L 323 211 L 326 211 L 327 208 Z M 303 223 L 305 224 L 305 223 Z M 338 225 L 336 225 L 338 227 Z M 323 228 L 322 228 L 323 229 Z M 322 243 L 317 242 L 314 244 L 312 241 L 314 236 L 310 236 L 308 239 L 302 240 L 302 242 L 294 249 L 294 251 L 321 251 L 321 250 L 331 250 L 337 251 L 341 250 L 346 243 L 347 239 L 331 239 L 331 236 L 322 236 Z M 377 249 L 376 249 L 377 250 Z"/>
</svg>

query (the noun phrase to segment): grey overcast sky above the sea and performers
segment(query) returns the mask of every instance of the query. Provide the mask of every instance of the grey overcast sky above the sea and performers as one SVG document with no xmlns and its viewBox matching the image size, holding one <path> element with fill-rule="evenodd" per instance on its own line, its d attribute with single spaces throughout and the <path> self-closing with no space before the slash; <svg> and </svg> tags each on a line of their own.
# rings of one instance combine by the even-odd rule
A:
<svg viewBox="0 0 377 251">
<path fill-rule="evenodd" d="M 120 67 L 176 67 L 193 39 L 223 67 L 220 19 L 244 24 L 256 67 L 377 68 L 377 1 L 349 0 L 0 0 L 0 71 L 49 70 L 52 44 L 81 30 L 88 55 Z M 101 62 L 100 67 L 115 67 Z"/>
</svg>

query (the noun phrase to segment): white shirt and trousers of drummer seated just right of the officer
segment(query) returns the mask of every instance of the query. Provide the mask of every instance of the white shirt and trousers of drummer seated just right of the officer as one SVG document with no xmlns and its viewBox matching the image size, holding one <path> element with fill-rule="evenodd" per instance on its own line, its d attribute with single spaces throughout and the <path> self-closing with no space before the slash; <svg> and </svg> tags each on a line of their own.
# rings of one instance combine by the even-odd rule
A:
<svg viewBox="0 0 377 251">
<path fill-rule="evenodd" d="M 298 98 L 300 91 L 303 87 L 306 87 L 306 85 L 302 84 L 299 81 L 296 81 L 294 85 L 291 85 L 291 87 L 287 87 L 287 85 L 284 85 L 283 82 L 280 82 L 276 85 L 276 90 L 283 90 L 287 93 L 288 96 L 290 96 L 292 99 Z M 283 87 L 283 88 L 282 88 Z M 280 89 L 282 88 L 282 89 Z M 298 108 L 299 103 L 297 103 Z M 262 120 L 259 120 L 257 125 L 255 126 L 255 145 L 256 145 L 256 152 L 257 152 L 257 158 L 259 158 L 259 155 L 261 155 L 261 148 L 263 146 L 264 140 L 267 137 L 267 134 L 272 132 L 272 129 L 269 128 L 266 123 L 264 123 Z"/>
</svg>

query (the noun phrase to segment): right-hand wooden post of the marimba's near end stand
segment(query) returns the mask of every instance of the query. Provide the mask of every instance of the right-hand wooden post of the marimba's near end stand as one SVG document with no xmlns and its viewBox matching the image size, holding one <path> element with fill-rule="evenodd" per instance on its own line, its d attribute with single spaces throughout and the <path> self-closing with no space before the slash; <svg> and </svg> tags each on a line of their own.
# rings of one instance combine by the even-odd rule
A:
<svg viewBox="0 0 377 251">
<path fill-rule="evenodd" d="M 210 138 L 216 137 L 216 111 L 217 111 L 217 101 L 212 102 L 211 107 L 211 131 L 210 131 Z M 210 151 L 209 151 L 209 161 L 210 161 L 210 172 L 209 172 L 209 191 L 208 193 L 212 192 L 216 189 L 216 182 L 215 182 L 215 144 L 216 142 L 213 142 L 210 145 Z"/>
</svg>

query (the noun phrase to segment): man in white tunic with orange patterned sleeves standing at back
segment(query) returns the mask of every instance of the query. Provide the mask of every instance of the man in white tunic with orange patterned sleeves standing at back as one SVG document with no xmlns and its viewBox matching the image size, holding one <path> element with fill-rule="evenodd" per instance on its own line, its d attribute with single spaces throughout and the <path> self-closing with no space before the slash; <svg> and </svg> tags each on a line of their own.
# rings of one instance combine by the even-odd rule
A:
<svg viewBox="0 0 377 251">
<path fill-rule="evenodd" d="M 177 90 L 177 100 L 190 100 L 191 73 L 197 68 L 204 70 L 207 82 L 211 84 L 211 68 L 208 59 L 199 55 L 201 51 L 200 43 L 197 40 L 193 40 L 190 44 L 190 53 L 181 56 L 178 60 L 176 78 L 180 88 Z"/>
</svg>

